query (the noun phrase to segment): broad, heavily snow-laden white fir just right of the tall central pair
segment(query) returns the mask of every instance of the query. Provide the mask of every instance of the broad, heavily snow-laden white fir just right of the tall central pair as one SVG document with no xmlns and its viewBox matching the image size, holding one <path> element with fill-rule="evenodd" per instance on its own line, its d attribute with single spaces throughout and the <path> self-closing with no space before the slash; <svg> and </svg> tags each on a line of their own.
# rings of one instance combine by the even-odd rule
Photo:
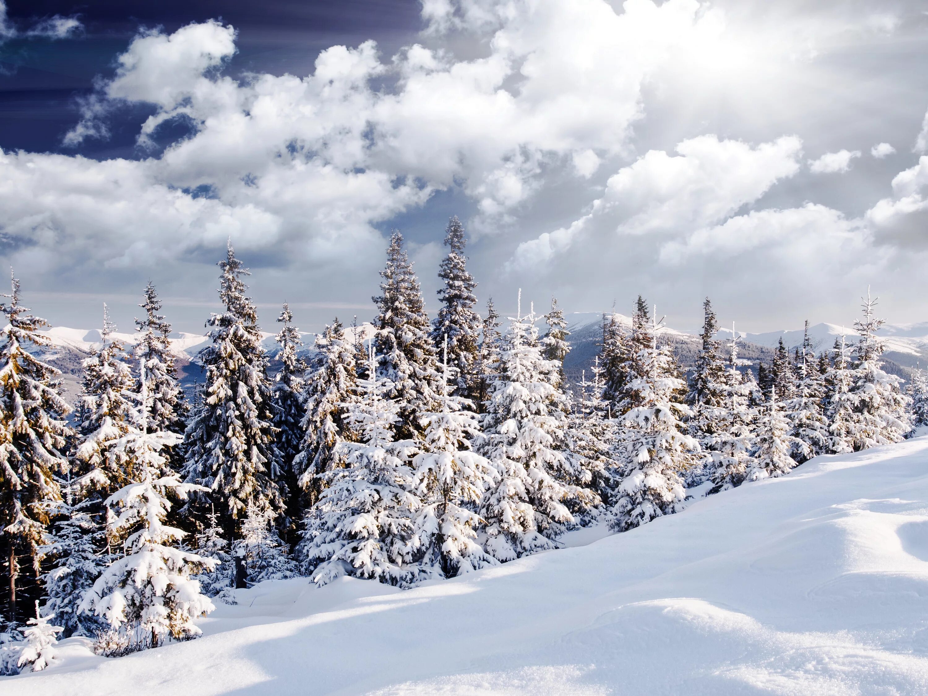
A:
<svg viewBox="0 0 928 696">
<path fill-rule="evenodd" d="M 521 304 L 521 303 L 520 303 Z M 481 454 L 498 471 L 480 514 L 487 522 L 486 550 L 511 561 L 545 548 L 574 522 L 570 498 L 592 504 L 595 496 L 562 483 L 568 469 L 562 451 L 565 395 L 558 389 L 558 364 L 546 360 L 535 315 L 510 319 L 487 411 Z"/>
</svg>

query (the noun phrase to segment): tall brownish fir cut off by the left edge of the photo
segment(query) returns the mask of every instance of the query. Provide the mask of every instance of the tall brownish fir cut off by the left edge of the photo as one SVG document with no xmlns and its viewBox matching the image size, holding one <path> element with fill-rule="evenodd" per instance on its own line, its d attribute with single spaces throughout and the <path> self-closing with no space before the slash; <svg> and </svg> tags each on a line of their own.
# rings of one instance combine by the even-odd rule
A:
<svg viewBox="0 0 928 696">
<path fill-rule="evenodd" d="M 28 352 L 50 342 L 39 330 L 44 319 L 19 304 L 19 280 L 11 274 L 9 302 L 0 303 L 6 328 L 0 330 L 0 535 L 6 545 L 7 609 L 17 612 L 19 557 L 37 562 L 50 504 L 60 500 L 55 472 L 67 470 L 61 454 L 71 429 L 71 411 L 58 394 L 58 369 Z"/>
</svg>

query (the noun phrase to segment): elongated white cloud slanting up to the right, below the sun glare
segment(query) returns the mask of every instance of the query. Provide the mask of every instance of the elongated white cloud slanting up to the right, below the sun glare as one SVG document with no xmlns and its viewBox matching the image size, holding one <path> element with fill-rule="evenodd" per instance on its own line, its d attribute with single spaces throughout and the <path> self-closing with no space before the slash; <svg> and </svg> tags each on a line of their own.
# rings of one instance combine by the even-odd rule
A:
<svg viewBox="0 0 928 696">
<path fill-rule="evenodd" d="M 615 235 L 683 232 L 724 220 L 799 171 L 802 141 L 780 137 L 752 147 L 701 135 L 677 145 L 677 156 L 651 150 L 610 177 L 605 195 L 571 226 L 522 242 L 512 269 L 545 264 L 596 230 Z M 608 242 L 607 242 L 608 243 Z"/>
</svg>

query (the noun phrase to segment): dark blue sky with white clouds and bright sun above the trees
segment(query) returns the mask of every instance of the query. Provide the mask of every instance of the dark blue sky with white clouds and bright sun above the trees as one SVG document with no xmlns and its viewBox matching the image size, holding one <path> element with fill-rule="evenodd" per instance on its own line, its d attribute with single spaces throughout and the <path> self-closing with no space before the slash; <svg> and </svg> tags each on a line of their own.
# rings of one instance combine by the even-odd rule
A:
<svg viewBox="0 0 928 696">
<path fill-rule="evenodd" d="M 231 239 L 265 330 L 374 315 L 403 232 L 434 312 L 697 329 L 928 320 L 928 6 L 911 0 L 0 0 L 0 262 L 55 325 L 178 330 Z"/>
</svg>

